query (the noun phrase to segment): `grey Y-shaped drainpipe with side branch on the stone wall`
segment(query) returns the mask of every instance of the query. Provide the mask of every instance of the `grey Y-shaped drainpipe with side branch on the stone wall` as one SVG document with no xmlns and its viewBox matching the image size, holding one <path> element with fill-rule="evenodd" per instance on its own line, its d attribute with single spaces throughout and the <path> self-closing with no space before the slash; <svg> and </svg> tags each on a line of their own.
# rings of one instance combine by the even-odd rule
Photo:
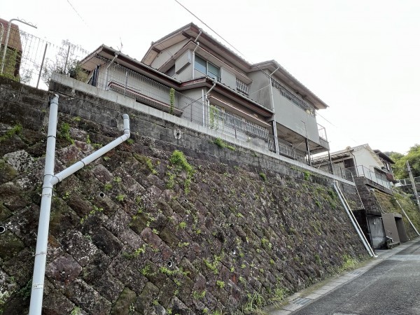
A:
<svg viewBox="0 0 420 315">
<path fill-rule="evenodd" d="M 38 223 L 38 235 L 36 238 L 36 251 L 35 251 L 35 263 L 34 263 L 34 275 L 32 278 L 31 288 L 31 302 L 29 306 L 29 315 L 41 315 L 42 311 L 42 300 L 43 300 L 43 287 L 45 277 L 45 262 L 47 259 L 47 246 L 48 246 L 48 228 L 50 223 L 50 211 L 51 211 L 51 200 L 52 200 L 52 188 L 53 186 L 62 181 L 67 176 L 70 176 L 74 172 L 89 164 L 93 160 L 99 158 L 104 153 L 110 151 L 112 148 L 118 146 L 123 141 L 130 138 L 130 118 L 127 114 L 123 115 L 124 119 L 124 134 L 118 137 L 110 144 L 107 144 L 98 151 L 95 151 L 91 155 L 87 156 L 83 160 L 76 162 L 71 167 L 64 169 L 54 175 L 55 165 L 55 138 L 57 134 L 57 113 L 58 113 L 58 95 L 52 98 L 50 102 L 50 117 L 48 121 L 48 137 L 47 137 L 47 149 L 45 153 L 45 169 L 43 178 L 43 188 L 41 197 L 41 209 L 39 214 Z"/>
</svg>

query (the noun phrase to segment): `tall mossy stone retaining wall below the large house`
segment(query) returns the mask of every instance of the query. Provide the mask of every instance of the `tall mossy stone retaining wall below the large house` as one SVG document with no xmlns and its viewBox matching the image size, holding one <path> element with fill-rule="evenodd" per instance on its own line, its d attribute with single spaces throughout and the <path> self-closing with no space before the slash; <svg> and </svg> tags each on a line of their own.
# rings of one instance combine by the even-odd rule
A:
<svg viewBox="0 0 420 315">
<path fill-rule="evenodd" d="M 252 314 L 367 257 L 331 178 L 52 90 L 55 172 L 119 137 L 121 113 L 132 137 L 55 187 L 44 314 Z M 29 306 L 50 95 L 0 79 L 3 314 Z"/>
</svg>

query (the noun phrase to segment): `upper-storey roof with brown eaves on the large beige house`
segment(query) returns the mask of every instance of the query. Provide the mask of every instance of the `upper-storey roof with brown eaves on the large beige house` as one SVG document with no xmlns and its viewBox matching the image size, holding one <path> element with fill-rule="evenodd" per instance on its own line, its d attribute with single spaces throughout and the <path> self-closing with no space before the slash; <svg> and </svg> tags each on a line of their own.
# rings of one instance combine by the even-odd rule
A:
<svg viewBox="0 0 420 315">
<path fill-rule="evenodd" d="M 302 99 L 307 99 L 309 102 L 311 102 L 311 104 L 314 104 L 316 109 L 326 109 L 328 107 L 328 105 L 325 104 L 325 102 L 323 102 L 319 97 L 317 97 L 316 94 L 311 92 L 311 90 L 300 83 L 299 80 L 292 76 L 275 60 L 251 64 L 230 50 L 228 47 L 223 45 L 221 42 L 217 41 L 211 35 L 200 29 L 200 27 L 197 27 L 197 25 L 194 23 L 190 23 L 184 27 L 176 29 L 176 31 L 173 31 L 172 33 L 160 38 L 158 41 L 151 43 L 151 47 L 148 49 L 143 59 L 141 59 L 141 62 L 144 62 L 144 64 L 150 66 L 155 57 L 157 57 L 162 50 L 175 45 L 176 43 L 181 43 L 186 39 L 189 39 L 193 42 L 200 42 L 206 47 L 211 48 L 211 50 L 216 52 L 218 55 L 223 56 L 226 61 L 231 62 L 246 73 L 261 71 L 265 69 L 272 73 L 277 69 L 273 76 L 279 78 L 284 83 L 289 85 L 293 89 L 293 92 L 302 96 Z"/>
</svg>

